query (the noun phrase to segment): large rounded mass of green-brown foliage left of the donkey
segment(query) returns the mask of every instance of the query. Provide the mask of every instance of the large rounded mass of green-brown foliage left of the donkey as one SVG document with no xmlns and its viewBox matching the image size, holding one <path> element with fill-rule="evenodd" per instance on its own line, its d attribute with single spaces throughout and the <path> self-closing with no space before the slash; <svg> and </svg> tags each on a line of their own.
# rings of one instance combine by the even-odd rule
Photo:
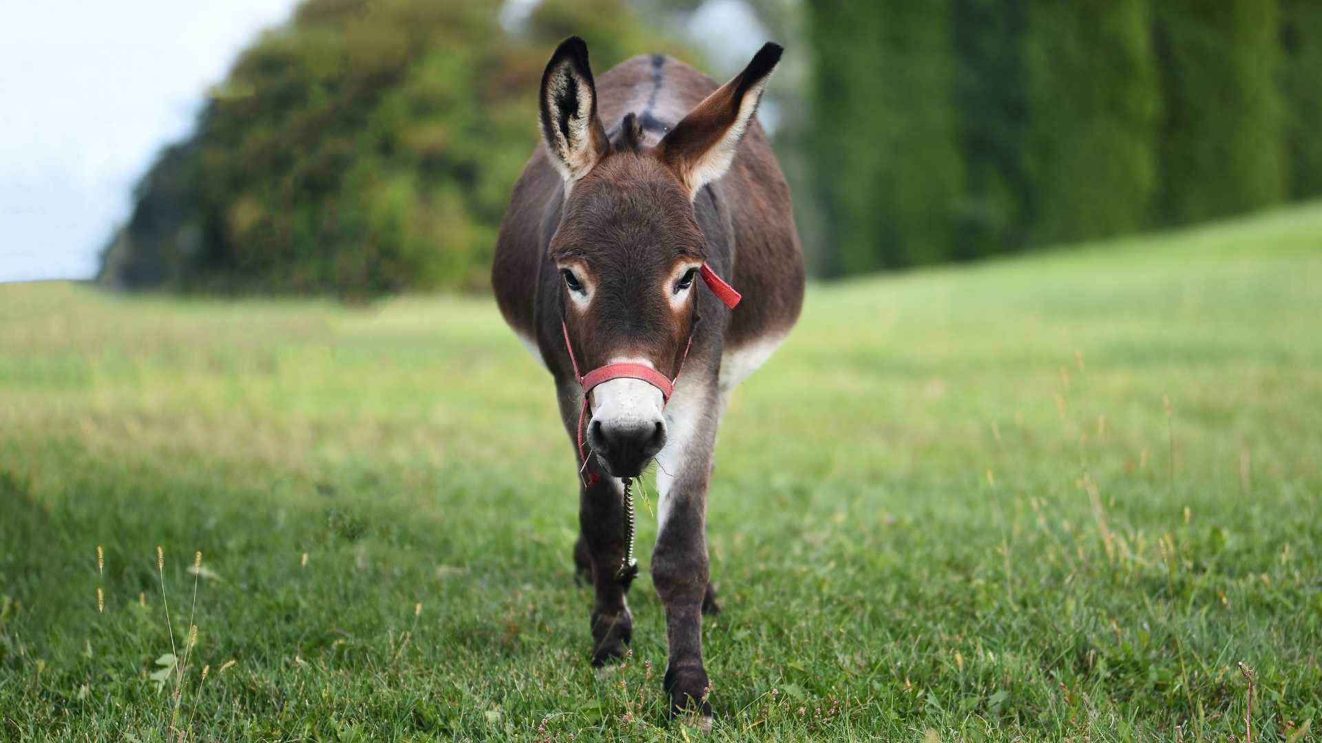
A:
<svg viewBox="0 0 1322 743">
<path fill-rule="evenodd" d="M 534 91 L 571 30 L 604 70 L 665 48 L 619 0 L 308 0 L 247 49 L 197 132 L 148 173 L 106 278 L 184 290 L 485 286 L 535 143 Z"/>
</svg>

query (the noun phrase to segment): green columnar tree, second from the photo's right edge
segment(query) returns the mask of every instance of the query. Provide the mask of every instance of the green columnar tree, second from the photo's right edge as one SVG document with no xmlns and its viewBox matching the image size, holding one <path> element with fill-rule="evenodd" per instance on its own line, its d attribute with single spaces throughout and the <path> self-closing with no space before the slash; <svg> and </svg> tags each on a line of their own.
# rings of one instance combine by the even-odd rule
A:
<svg viewBox="0 0 1322 743">
<path fill-rule="evenodd" d="M 1194 222 L 1281 201 L 1286 172 L 1276 0 L 1161 0 L 1153 8 L 1166 108 L 1166 221 Z"/>
</svg>

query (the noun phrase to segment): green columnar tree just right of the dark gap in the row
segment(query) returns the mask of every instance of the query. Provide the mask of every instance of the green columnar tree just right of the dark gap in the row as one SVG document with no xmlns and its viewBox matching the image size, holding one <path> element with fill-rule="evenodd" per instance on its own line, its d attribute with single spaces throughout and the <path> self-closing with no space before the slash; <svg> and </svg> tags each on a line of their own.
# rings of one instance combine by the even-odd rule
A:
<svg viewBox="0 0 1322 743">
<path fill-rule="evenodd" d="M 1159 90 L 1146 0 L 1029 0 L 1030 239 L 1136 230 L 1157 193 Z"/>
</svg>

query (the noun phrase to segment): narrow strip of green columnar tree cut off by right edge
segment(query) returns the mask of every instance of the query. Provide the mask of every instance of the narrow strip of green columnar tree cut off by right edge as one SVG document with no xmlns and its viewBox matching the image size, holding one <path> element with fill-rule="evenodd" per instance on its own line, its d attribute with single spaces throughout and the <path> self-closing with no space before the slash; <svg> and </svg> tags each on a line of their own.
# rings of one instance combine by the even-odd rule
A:
<svg viewBox="0 0 1322 743">
<path fill-rule="evenodd" d="M 1281 0 L 1290 196 L 1322 196 L 1322 3 Z"/>
</svg>

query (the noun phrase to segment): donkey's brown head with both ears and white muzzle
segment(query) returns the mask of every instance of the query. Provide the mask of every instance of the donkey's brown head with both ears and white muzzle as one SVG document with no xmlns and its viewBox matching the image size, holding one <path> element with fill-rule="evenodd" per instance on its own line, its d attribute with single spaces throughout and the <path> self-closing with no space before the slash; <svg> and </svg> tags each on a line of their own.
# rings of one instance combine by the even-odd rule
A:
<svg viewBox="0 0 1322 743">
<path fill-rule="evenodd" d="M 564 325 L 584 369 L 640 364 L 674 378 L 697 321 L 694 284 L 706 241 L 694 200 L 734 161 L 781 48 L 767 44 L 656 144 L 635 114 L 608 136 L 582 38 L 566 40 L 542 75 L 542 137 L 564 178 L 550 259 Z M 588 446 L 617 477 L 636 476 L 665 446 L 665 398 L 615 378 L 591 393 Z"/>
</svg>

